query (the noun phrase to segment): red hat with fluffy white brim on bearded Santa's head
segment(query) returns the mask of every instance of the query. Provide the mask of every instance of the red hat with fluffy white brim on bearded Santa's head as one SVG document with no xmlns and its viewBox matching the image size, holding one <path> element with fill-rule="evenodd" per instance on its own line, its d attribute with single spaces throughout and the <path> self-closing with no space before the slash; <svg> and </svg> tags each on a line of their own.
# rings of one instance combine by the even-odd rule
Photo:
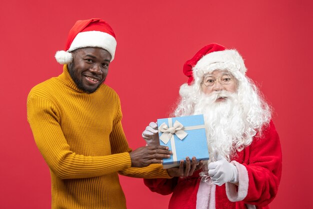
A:
<svg viewBox="0 0 313 209">
<path fill-rule="evenodd" d="M 243 59 L 236 50 L 228 50 L 216 43 L 206 45 L 183 65 L 183 73 L 189 77 L 189 86 L 194 79 L 202 80 L 204 74 L 214 70 L 229 70 L 235 77 L 235 72 L 243 75 L 246 72 Z"/>
</svg>

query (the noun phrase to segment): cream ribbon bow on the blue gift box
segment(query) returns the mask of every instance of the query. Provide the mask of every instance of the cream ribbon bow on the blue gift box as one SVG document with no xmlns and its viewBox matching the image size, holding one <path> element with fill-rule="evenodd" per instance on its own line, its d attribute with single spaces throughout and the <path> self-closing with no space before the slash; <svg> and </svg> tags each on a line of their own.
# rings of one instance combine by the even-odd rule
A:
<svg viewBox="0 0 313 209">
<path fill-rule="evenodd" d="M 186 137 L 188 134 L 183 131 L 183 125 L 179 123 L 177 120 L 174 122 L 173 127 L 168 128 L 165 123 L 162 123 L 158 127 L 159 132 L 163 132 L 160 136 L 160 140 L 164 142 L 164 144 L 167 144 L 169 139 L 172 137 L 173 134 L 176 134 L 176 136 L 182 140 L 184 137 Z"/>
</svg>

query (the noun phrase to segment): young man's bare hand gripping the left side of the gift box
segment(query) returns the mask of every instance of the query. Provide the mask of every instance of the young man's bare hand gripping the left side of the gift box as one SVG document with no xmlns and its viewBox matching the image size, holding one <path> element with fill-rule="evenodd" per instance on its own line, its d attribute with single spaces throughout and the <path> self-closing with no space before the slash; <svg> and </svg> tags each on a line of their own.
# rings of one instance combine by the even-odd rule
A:
<svg viewBox="0 0 313 209">
<path fill-rule="evenodd" d="M 162 158 L 169 158 L 172 154 L 167 146 L 139 147 L 130 154 L 131 167 L 145 167 L 152 163 L 162 163 Z"/>
</svg>

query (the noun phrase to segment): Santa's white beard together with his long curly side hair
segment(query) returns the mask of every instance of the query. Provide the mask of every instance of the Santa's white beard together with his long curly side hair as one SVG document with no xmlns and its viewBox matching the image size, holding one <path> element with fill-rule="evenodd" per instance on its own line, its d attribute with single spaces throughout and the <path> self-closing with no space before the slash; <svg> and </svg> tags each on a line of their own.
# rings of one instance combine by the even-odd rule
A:
<svg viewBox="0 0 313 209">
<path fill-rule="evenodd" d="M 269 106 L 252 81 L 244 76 L 239 81 L 236 93 L 220 91 L 206 95 L 196 83 L 180 87 L 181 100 L 174 115 L 203 114 L 209 162 L 215 161 L 217 155 L 230 161 L 236 151 L 261 135 L 262 127 L 268 125 L 271 118 Z M 215 102 L 221 96 L 227 99 Z"/>
</svg>

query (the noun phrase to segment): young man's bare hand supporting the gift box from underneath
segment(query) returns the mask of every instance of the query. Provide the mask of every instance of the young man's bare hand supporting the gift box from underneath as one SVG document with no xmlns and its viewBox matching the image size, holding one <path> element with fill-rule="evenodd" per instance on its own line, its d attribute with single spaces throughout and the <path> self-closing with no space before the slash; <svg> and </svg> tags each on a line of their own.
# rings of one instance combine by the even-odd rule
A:
<svg viewBox="0 0 313 209">
<path fill-rule="evenodd" d="M 179 167 L 172 167 L 167 169 L 167 173 L 170 177 L 174 176 L 191 176 L 194 171 L 202 168 L 203 161 L 196 162 L 196 158 L 192 157 L 190 162 L 189 157 L 186 157 L 186 164 L 183 165 L 183 160 L 180 160 Z"/>
</svg>

